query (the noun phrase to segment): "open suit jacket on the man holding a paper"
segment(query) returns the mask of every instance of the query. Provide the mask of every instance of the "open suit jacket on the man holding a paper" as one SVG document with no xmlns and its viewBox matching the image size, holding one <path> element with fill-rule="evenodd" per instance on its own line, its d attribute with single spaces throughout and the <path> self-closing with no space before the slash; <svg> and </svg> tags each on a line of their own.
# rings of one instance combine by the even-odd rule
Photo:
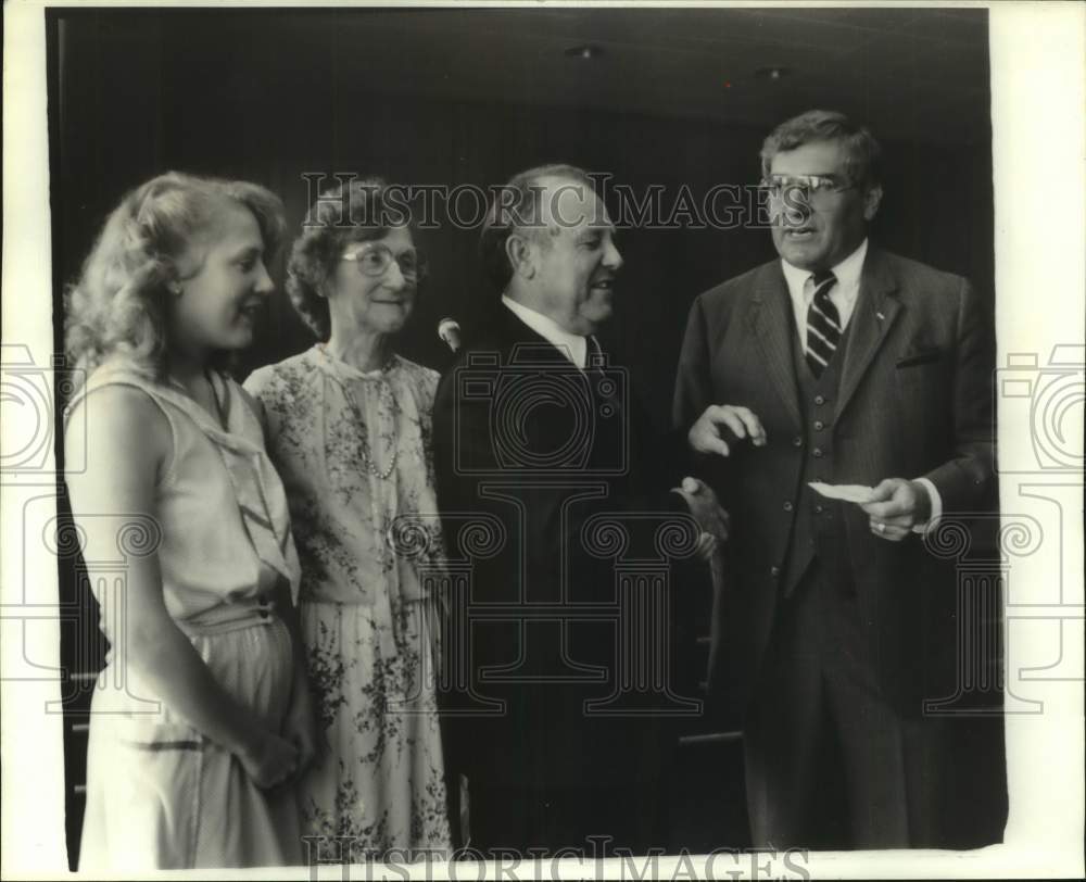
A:
<svg viewBox="0 0 1086 882">
<path fill-rule="evenodd" d="M 794 319 L 780 261 L 703 293 L 690 313 L 674 396 L 677 426 L 709 404 L 749 407 L 768 445 L 706 458 L 732 516 L 724 622 L 729 697 L 744 707 L 782 585 L 806 450 L 793 371 Z M 993 339 L 969 282 L 870 247 L 837 393 L 836 483 L 927 477 L 947 514 L 976 512 L 994 481 Z M 800 439 L 804 439 L 800 441 Z M 791 512 L 791 514 L 790 514 Z M 955 572 L 919 536 L 873 536 L 845 506 L 853 574 L 877 676 L 905 713 L 952 694 Z"/>
</svg>

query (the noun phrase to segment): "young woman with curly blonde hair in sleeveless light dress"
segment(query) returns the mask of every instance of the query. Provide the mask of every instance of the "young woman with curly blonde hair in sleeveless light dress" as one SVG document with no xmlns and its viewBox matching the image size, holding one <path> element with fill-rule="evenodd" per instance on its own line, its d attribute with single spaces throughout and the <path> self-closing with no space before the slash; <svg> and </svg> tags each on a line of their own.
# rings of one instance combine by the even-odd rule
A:
<svg viewBox="0 0 1086 882">
<path fill-rule="evenodd" d="M 167 174 L 127 194 L 70 292 L 87 376 L 65 444 L 111 655 L 90 723 L 80 869 L 300 864 L 293 781 L 315 751 L 292 595 L 298 557 L 258 405 L 219 368 L 272 291 L 282 206 Z M 79 457 L 81 458 L 81 457 Z M 74 456 L 68 462 L 75 462 Z M 130 543 L 129 543 L 130 544 Z"/>
</svg>

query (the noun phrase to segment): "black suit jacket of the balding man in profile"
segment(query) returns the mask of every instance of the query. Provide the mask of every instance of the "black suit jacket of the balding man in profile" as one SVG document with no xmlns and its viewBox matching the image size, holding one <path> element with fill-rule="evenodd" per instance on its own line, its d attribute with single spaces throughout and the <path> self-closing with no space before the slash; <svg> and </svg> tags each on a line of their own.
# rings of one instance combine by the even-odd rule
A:
<svg viewBox="0 0 1086 882">
<path fill-rule="evenodd" d="M 646 448 L 652 432 L 624 370 L 582 374 L 501 307 L 443 376 L 433 427 L 451 553 L 463 547 L 455 533 L 472 516 L 505 529 L 500 550 L 472 562 L 472 604 L 552 609 L 550 620 L 530 623 L 472 622 L 471 684 L 506 709 L 446 717 L 451 765 L 473 780 L 535 789 L 652 778 L 662 751 L 658 720 L 585 713 L 586 701 L 615 689 L 619 646 L 614 621 L 585 621 L 576 608 L 617 602 L 615 560 L 594 516 L 615 513 L 629 532 L 623 557 L 651 559 L 659 557 L 656 527 L 673 518 L 675 502 L 681 507 L 667 493 L 675 483 L 667 454 Z M 645 522 L 628 518 L 652 513 Z M 519 665 L 519 680 L 481 680 L 494 665 Z M 586 665 L 598 666 L 595 681 L 569 681 Z"/>
</svg>

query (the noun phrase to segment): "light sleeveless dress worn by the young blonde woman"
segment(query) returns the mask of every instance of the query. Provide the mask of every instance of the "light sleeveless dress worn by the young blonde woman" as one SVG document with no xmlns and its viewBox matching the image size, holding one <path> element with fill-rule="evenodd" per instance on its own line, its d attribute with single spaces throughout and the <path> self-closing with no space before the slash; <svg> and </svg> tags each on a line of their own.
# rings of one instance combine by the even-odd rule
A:
<svg viewBox="0 0 1086 882">
<path fill-rule="evenodd" d="M 180 391 L 116 364 L 98 368 L 68 412 L 93 407 L 94 391 L 114 385 L 141 389 L 169 424 L 157 528 L 146 525 L 143 541 L 157 539 L 166 608 L 226 693 L 280 732 L 292 652 L 272 592 L 285 579 L 294 595 L 299 567 L 261 425 L 240 388 L 222 376 L 214 388 L 225 431 Z M 92 462 L 94 439 L 88 443 Z M 293 788 L 256 788 L 233 755 L 140 682 L 125 660 L 123 572 L 96 579 L 93 570 L 88 562 L 112 648 L 91 705 L 79 869 L 301 864 Z"/>
</svg>

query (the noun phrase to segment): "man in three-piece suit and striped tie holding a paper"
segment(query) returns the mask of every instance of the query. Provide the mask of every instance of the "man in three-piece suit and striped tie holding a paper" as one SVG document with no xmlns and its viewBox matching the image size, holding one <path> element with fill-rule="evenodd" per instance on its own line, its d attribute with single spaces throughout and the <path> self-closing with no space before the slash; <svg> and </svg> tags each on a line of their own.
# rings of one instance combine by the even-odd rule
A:
<svg viewBox="0 0 1086 882">
<path fill-rule="evenodd" d="M 756 846 L 947 844 L 923 701 L 954 693 L 956 580 L 920 533 L 989 499 L 993 339 L 965 279 L 868 241 L 877 153 L 822 111 L 767 138 L 781 260 L 698 297 L 680 356 L 674 419 L 731 514 L 717 681 Z"/>
</svg>

